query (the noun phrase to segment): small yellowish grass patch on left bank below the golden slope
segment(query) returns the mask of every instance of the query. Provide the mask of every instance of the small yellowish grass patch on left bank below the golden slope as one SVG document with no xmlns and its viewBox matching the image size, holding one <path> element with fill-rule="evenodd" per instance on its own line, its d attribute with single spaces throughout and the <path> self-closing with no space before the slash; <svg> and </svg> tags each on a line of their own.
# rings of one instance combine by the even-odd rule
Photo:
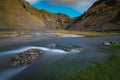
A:
<svg viewBox="0 0 120 80">
<path fill-rule="evenodd" d="M 15 36 L 23 36 L 23 35 L 25 35 L 24 32 L 17 32 L 17 31 L 0 32 L 0 38 L 8 38 L 8 37 L 15 37 Z"/>
</svg>

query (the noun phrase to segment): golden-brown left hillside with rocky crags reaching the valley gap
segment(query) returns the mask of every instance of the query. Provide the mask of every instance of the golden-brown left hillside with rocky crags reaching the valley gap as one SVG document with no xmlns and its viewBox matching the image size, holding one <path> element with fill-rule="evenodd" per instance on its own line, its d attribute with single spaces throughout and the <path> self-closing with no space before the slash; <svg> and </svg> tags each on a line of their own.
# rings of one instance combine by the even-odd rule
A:
<svg viewBox="0 0 120 80">
<path fill-rule="evenodd" d="M 71 21 L 63 14 L 37 10 L 25 0 L 0 0 L 0 30 L 62 29 Z"/>
</svg>

